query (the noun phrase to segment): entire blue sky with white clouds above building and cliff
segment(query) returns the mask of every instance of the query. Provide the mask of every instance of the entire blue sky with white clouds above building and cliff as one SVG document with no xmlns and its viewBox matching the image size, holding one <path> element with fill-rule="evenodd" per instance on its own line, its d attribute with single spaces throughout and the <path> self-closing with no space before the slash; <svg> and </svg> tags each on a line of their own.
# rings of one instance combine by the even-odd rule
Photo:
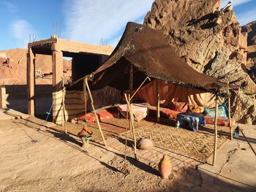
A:
<svg viewBox="0 0 256 192">
<path fill-rule="evenodd" d="M 53 34 L 61 24 L 61 38 L 115 46 L 128 21 L 143 23 L 154 0 L 0 0 L 0 50 L 26 47 Z M 223 1 L 222 4 L 227 4 Z M 256 20 L 256 0 L 233 0 L 241 25 Z"/>
</svg>

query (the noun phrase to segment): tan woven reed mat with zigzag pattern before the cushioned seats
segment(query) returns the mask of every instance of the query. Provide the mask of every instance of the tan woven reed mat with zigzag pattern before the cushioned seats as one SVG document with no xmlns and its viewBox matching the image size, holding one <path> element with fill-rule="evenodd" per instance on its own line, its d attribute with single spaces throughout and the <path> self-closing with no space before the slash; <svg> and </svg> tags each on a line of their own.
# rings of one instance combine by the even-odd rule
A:
<svg viewBox="0 0 256 192">
<path fill-rule="evenodd" d="M 228 127 L 218 126 L 217 146 L 221 147 L 228 139 Z M 226 135 L 223 135 L 226 134 Z M 149 137 L 154 146 L 165 148 L 172 152 L 188 155 L 198 161 L 206 161 L 214 153 L 214 128 L 213 126 L 200 127 L 193 132 L 186 128 L 175 128 L 161 124 L 135 131 L 136 138 Z M 132 133 L 127 135 L 132 138 Z"/>
</svg>

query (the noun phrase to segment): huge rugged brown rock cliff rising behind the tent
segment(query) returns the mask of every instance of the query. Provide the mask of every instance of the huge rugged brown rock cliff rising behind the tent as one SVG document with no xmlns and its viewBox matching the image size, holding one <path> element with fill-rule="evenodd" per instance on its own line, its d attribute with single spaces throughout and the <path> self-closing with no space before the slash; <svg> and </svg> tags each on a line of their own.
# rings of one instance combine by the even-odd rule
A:
<svg viewBox="0 0 256 192">
<path fill-rule="evenodd" d="M 232 7 L 220 10 L 220 4 L 220 0 L 156 0 L 144 24 L 161 30 L 189 66 L 241 87 L 239 99 L 233 96 L 235 118 L 256 123 L 256 85 L 244 72 L 247 34 L 241 33 Z"/>
</svg>

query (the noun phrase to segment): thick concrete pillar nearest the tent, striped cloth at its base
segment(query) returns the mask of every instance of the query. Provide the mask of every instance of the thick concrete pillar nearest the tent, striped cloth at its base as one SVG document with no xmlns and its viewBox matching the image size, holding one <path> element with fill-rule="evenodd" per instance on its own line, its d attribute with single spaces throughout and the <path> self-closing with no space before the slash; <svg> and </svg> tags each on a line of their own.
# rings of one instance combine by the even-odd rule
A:
<svg viewBox="0 0 256 192">
<path fill-rule="evenodd" d="M 62 120 L 62 77 L 63 53 L 57 44 L 52 45 L 53 62 L 53 122 L 61 124 Z"/>
</svg>

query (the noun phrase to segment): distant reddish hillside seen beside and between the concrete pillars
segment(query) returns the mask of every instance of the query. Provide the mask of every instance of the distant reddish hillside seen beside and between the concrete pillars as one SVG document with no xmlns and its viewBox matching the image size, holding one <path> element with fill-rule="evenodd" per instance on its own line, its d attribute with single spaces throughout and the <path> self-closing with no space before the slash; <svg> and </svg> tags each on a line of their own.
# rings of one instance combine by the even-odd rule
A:
<svg viewBox="0 0 256 192">
<path fill-rule="evenodd" d="M 0 51 L 0 85 L 26 85 L 26 49 Z M 52 72 L 52 60 L 48 55 L 37 55 L 36 66 L 40 74 Z M 64 60 L 64 71 L 71 69 L 71 62 Z M 39 84 L 50 84 L 49 79 L 37 79 Z"/>
</svg>

